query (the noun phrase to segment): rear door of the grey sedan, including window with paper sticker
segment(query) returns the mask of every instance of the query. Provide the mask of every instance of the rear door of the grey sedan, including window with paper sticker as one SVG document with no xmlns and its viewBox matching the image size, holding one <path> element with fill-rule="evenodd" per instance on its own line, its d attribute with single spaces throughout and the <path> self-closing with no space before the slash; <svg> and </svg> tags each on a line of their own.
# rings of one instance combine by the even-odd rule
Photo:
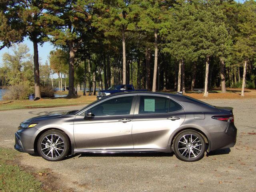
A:
<svg viewBox="0 0 256 192">
<path fill-rule="evenodd" d="M 137 96 L 132 138 L 134 149 L 166 148 L 185 120 L 183 106 L 166 96 Z"/>
</svg>

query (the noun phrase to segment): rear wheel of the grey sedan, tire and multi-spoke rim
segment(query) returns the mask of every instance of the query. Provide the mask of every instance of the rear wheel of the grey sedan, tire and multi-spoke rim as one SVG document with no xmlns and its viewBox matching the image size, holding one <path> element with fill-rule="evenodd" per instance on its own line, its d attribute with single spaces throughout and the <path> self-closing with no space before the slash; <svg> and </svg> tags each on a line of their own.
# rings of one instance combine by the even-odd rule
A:
<svg viewBox="0 0 256 192">
<path fill-rule="evenodd" d="M 205 150 L 204 138 L 194 130 L 182 131 L 174 139 L 175 155 L 182 161 L 198 161 L 204 157 Z"/>
</svg>

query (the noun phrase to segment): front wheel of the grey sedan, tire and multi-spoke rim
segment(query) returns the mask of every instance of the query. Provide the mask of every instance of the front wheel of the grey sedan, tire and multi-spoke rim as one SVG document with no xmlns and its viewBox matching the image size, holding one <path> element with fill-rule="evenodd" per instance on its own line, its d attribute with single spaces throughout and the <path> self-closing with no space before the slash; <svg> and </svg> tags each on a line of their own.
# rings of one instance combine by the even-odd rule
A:
<svg viewBox="0 0 256 192">
<path fill-rule="evenodd" d="M 43 133 L 37 142 L 39 155 L 48 161 L 60 161 L 69 152 L 68 136 L 59 130 L 48 130 Z"/>
</svg>

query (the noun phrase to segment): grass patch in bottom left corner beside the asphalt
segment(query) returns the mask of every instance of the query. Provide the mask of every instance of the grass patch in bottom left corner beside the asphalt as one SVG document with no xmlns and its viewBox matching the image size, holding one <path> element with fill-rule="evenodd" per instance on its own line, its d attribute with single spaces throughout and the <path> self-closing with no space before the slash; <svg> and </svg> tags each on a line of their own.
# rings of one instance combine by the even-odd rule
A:
<svg viewBox="0 0 256 192">
<path fill-rule="evenodd" d="M 42 184 L 30 173 L 21 170 L 10 162 L 18 152 L 0 148 L 0 191 L 1 192 L 43 192 Z"/>
</svg>

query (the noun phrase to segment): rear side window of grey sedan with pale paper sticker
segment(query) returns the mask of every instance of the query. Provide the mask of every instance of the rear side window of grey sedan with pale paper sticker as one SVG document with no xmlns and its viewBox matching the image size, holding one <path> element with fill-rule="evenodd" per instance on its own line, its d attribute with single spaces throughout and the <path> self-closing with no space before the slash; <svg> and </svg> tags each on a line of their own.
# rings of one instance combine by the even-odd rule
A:
<svg viewBox="0 0 256 192">
<path fill-rule="evenodd" d="M 168 113 L 181 110 L 180 104 L 165 97 L 140 96 L 139 114 Z"/>
</svg>

